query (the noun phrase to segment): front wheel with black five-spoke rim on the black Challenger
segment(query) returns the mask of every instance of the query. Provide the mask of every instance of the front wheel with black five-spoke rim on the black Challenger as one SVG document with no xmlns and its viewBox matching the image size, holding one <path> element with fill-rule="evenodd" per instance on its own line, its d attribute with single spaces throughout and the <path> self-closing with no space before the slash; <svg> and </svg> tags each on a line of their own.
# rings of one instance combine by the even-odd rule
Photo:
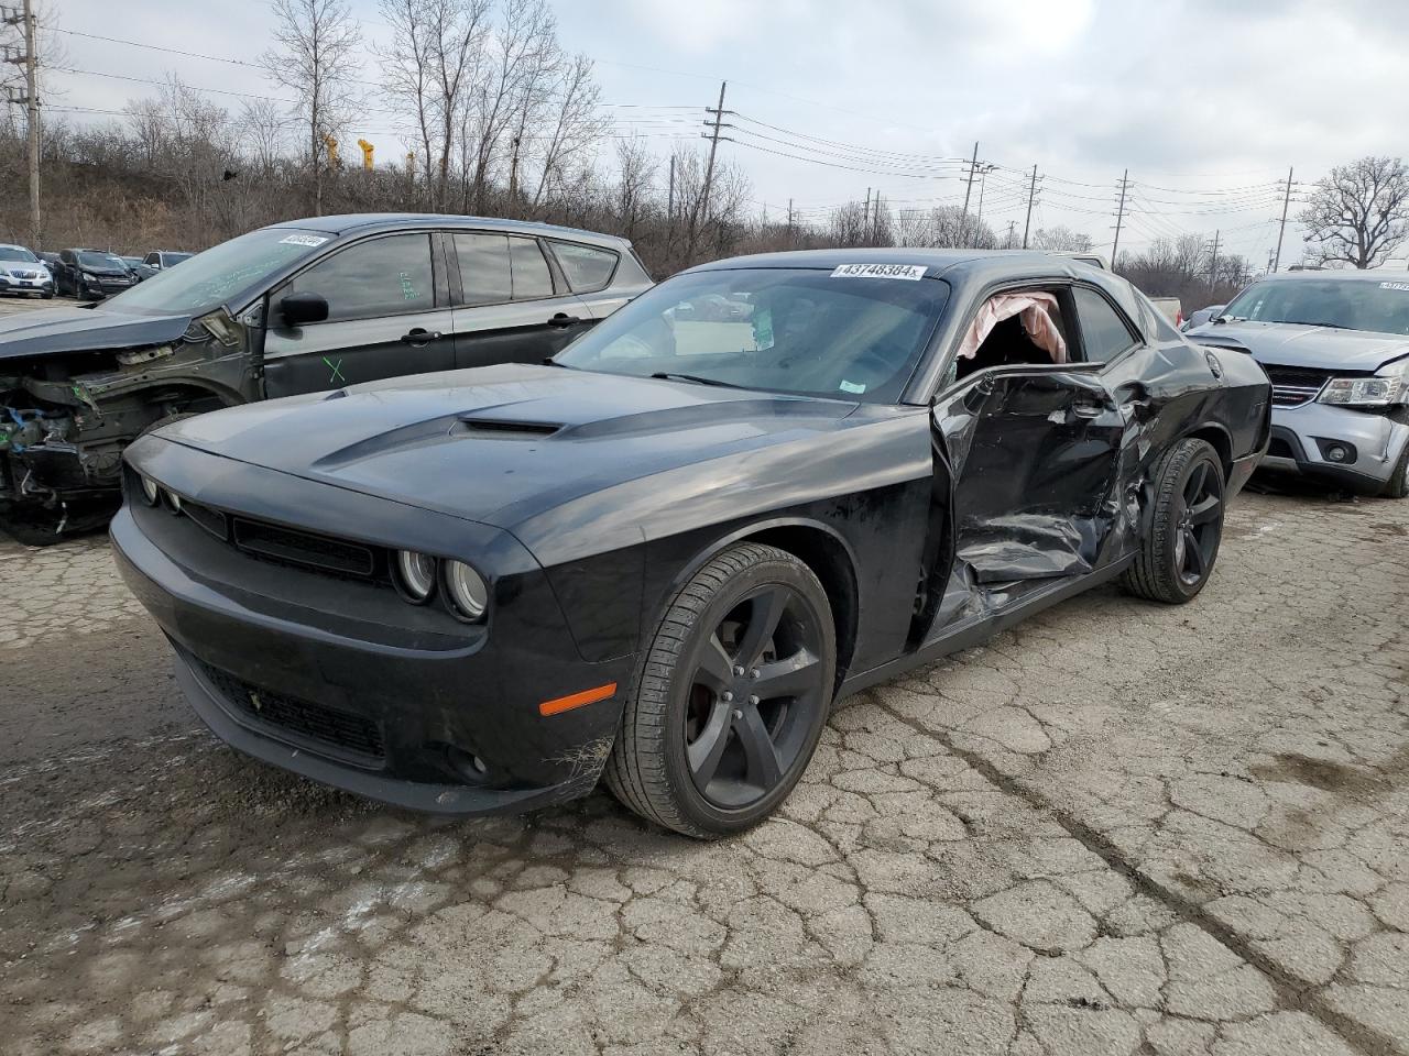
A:
<svg viewBox="0 0 1409 1056">
<path fill-rule="evenodd" d="M 817 749 L 836 658 L 831 607 L 812 569 L 772 546 L 724 551 L 675 596 L 647 643 L 607 787 L 688 836 L 757 825 Z"/>
</svg>

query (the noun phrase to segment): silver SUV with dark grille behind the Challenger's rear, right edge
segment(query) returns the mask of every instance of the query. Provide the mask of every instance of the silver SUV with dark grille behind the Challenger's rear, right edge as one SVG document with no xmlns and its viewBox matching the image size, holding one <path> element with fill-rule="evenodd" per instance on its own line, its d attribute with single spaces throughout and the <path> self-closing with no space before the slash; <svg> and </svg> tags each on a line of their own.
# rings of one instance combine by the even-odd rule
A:
<svg viewBox="0 0 1409 1056">
<path fill-rule="evenodd" d="M 1265 467 L 1409 494 L 1409 276 L 1396 275 L 1270 276 L 1189 331 L 1250 353 L 1271 379 Z"/>
</svg>

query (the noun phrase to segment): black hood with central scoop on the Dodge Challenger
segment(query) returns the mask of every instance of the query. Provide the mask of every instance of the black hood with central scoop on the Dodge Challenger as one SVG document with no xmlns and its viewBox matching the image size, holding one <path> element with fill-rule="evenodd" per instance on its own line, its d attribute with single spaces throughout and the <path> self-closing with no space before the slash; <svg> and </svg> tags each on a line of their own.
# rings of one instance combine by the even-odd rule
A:
<svg viewBox="0 0 1409 1056">
<path fill-rule="evenodd" d="M 858 404 L 504 365 L 232 407 L 161 436 L 511 528 L 616 484 L 841 428 Z"/>
</svg>

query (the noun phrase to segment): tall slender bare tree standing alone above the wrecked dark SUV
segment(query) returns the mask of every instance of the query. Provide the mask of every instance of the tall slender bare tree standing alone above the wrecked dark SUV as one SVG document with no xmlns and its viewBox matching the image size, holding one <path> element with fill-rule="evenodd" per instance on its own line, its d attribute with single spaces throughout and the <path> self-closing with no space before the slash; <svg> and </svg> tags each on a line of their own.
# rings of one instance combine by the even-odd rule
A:
<svg viewBox="0 0 1409 1056">
<path fill-rule="evenodd" d="M 345 0 L 273 0 L 275 39 L 259 56 L 269 79 L 296 96 L 307 128 L 313 213 L 323 215 L 325 137 L 335 135 L 358 101 L 352 55 L 362 28 Z"/>
</svg>

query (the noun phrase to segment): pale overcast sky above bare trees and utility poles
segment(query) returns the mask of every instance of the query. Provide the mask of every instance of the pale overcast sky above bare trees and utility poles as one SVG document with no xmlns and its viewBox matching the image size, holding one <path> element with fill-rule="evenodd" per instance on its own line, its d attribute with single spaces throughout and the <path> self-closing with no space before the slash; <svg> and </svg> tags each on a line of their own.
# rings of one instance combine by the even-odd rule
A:
<svg viewBox="0 0 1409 1056">
<path fill-rule="evenodd" d="M 351 0 L 369 42 L 375 0 Z M 561 41 L 597 63 L 619 134 L 696 141 L 728 80 L 738 111 L 721 145 L 755 210 L 803 217 L 879 190 L 896 208 L 961 201 L 961 169 L 999 166 L 983 217 L 1002 234 L 1044 176 L 1033 227 L 1067 224 L 1109 252 L 1117 184 L 1133 191 L 1122 246 L 1222 228 L 1265 263 L 1288 166 L 1309 183 L 1364 153 L 1405 152 L 1409 30 L 1403 0 L 555 0 Z M 261 0 L 63 0 L 70 31 L 254 61 L 272 18 Z M 66 66 L 276 94 L 256 70 L 61 34 Z M 368 80 L 376 76 L 366 58 Z M 120 108 L 155 87 L 54 70 L 51 103 Z M 232 96 L 210 99 L 231 106 Z M 693 107 L 693 108 L 689 108 Z M 70 120 L 103 120 L 69 113 Z M 762 124 L 759 124 L 762 122 Z M 349 130 L 400 153 L 395 118 Z M 768 125 L 772 125 L 769 128 Z M 779 131 L 785 130 L 785 131 Z M 771 137 L 771 138 L 762 138 Z M 778 142 L 778 141 L 786 142 Z M 826 142 L 820 142 L 826 141 Z M 745 145 L 750 144 L 750 145 Z M 778 153 L 766 153 L 775 151 Z M 797 161 L 779 153 L 806 155 Z M 827 163 L 823 163 L 827 162 Z M 978 204 L 978 187 L 974 204 Z M 1293 204 L 1295 214 L 1295 204 Z M 1301 255 L 1288 230 L 1284 263 Z"/>
</svg>

